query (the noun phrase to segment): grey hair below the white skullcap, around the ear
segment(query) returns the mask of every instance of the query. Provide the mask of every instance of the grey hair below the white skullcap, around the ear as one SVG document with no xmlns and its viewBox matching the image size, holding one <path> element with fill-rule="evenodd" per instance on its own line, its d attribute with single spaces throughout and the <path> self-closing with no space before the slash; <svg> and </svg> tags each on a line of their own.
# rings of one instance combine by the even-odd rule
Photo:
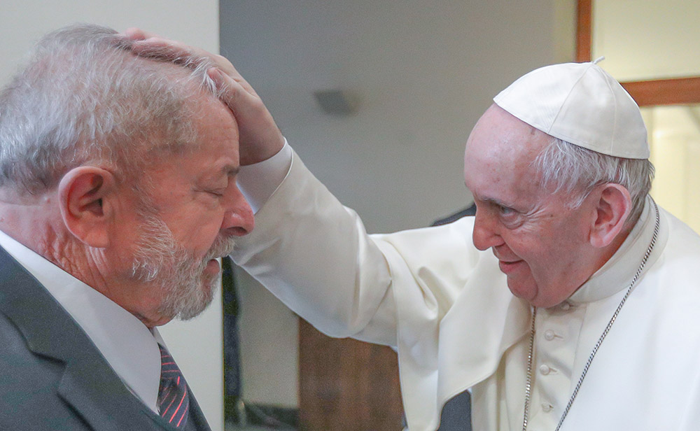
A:
<svg viewBox="0 0 700 431">
<path fill-rule="evenodd" d="M 552 141 L 532 162 L 540 181 L 552 193 L 572 195 L 570 206 L 577 208 L 596 185 L 615 183 L 626 188 L 632 210 L 626 225 L 635 223 L 654 179 L 654 165 L 648 159 L 626 159 L 596 153 L 561 139 Z"/>
</svg>

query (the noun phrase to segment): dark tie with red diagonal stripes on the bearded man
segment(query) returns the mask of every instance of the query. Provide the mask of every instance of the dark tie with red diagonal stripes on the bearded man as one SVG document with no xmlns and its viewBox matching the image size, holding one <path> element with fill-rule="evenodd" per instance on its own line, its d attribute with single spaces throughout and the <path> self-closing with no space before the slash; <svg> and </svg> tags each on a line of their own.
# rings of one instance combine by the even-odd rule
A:
<svg viewBox="0 0 700 431">
<path fill-rule="evenodd" d="M 190 409 L 187 383 L 180 369 L 165 347 L 160 347 L 160 388 L 158 389 L 158 409 L 160 416 L 176 428 L 185 428 Z"/>
</svg>

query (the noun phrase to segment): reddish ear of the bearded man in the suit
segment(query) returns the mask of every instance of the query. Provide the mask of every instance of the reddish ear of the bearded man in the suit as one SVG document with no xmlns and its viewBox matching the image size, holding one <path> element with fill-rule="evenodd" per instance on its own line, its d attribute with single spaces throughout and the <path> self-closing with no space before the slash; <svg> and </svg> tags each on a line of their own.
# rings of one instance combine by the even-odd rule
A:
<svg viewBox="0 0 700 431">
<path fill-rule="evenodd" d="M 88 246 L 109 245 L 109 224 L 116 192 L 114 176 L 105 169 L 81 166 L 71 169 L 58 185 L 63 222 L 68 230 Z"/>
</svg>

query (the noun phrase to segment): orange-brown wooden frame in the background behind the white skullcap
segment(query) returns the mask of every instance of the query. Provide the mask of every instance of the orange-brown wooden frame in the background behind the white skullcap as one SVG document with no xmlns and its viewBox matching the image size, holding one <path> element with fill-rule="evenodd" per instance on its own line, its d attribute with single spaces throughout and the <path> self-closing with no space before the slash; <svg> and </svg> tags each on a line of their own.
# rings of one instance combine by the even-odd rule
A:
<svg viewBox="0 0 700 431">
<path fill-rule="evenodd" d="M 576 61 L 591 61 L 593 0 L 577 0 Z M 700 76 L 622 83 L 639 106 L 700 104 Z"/>
</svg>

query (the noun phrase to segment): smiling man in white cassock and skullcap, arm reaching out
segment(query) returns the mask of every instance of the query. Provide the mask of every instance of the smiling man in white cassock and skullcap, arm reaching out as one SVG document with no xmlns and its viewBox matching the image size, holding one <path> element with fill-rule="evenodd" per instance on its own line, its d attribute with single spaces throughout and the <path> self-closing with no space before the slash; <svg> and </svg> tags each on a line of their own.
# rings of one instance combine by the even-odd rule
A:
<svg viewBox="0 0 700 431">
<path fill-rule="evenodd" d="M 264 160 L 235 261 L 319 330 L 396 348 L 411 431 L 468 388 L 475 430 L 700 428 L 700 237 L 647 195 L 639 108 L 603 69 L 496 96 L 465 150 L 475 218 L 367 235 L 216 61 L 241 164 Z"/>
</svg>

